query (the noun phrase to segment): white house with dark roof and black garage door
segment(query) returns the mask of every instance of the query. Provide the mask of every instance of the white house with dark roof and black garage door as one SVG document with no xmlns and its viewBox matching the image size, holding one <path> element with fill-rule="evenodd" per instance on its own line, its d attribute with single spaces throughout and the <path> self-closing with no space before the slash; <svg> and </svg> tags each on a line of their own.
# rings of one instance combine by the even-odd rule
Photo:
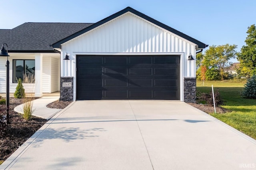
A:
<svg viewBox="0 0 256 170">
<path fill-rule="evenodd" d="M 0 43 L 8 44 L 10 55 L 10 92 L 17 85 L 17 62 L 25 73 L 33 61 L 36 96 L 60 90 L 61 100 L 193 102 L 196 62 L 188 56 L 195 59 L 208 46 L 130 7 L 94 24 L 24 23 L 2 33 Z M 0 93 L 5 61 L 0 58 Z"/>
</svg>

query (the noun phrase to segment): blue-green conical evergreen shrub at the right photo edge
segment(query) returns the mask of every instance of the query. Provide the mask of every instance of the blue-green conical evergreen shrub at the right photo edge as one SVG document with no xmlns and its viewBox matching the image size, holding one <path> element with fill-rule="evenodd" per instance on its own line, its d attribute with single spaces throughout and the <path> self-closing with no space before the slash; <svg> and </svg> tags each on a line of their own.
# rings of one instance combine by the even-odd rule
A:
<svg viewBox="0 0 256 170">
<path fill-rule="evenodd" d="M 246 98 L 256 99 L 256 75 L 253 75 L 251 78 L 249 78 L 244 85 L 243 95 Z"/>
</svg>

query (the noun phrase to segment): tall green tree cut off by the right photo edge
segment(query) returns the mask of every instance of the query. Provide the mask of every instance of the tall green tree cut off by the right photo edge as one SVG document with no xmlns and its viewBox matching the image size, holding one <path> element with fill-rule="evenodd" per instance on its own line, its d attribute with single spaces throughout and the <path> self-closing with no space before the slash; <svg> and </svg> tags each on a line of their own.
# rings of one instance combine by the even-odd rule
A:
<svg viewBox="0 0 256 170">
<path fill-rule="evenodd" d="M 256 74 L 256 27 L 255 24 L 248 27 L 246 32 L 248 35 L 245 39 L 246 45 L 241 48 L 241 52 L 238 53 L 238 61 L 240 61 L 240 67 L 238 73 L 240 76 L 249 78 Z"/>
</svg>

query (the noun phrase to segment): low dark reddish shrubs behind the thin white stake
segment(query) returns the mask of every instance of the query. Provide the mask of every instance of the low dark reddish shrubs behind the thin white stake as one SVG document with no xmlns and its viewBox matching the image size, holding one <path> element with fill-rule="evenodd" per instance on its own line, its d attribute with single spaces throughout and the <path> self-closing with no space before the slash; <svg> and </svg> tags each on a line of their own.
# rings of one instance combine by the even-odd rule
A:
<svg viewBox="0 0 256 170">
<path fill-rule="evenodd" d="M 215 100 L 215 106 L 220 106 L 224 104 L 224 101 L 222 100 L 218 90 L 214 92 L 214 100 Z M 196 91 L 196 101 L 197 103 L 214 106 L 212 92 L 206 93 L 206 92 Z"/>
</svg>

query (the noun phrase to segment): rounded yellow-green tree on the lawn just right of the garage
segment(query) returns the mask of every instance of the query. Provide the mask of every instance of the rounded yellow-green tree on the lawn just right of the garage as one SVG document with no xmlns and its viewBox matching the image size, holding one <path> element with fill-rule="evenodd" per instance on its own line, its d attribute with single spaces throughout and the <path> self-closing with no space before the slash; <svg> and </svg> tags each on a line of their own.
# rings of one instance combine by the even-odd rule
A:
<svg viewBox="0 0 256 170">
<path fill-rule="evenodd" d="M 230 59 L 236 58 L 237 45 L 212 45 L 205 51 L 202 65 L 208 69 L 206 71 L 206 80 L 224 80 L 224 68 L 232 64 Z"/>
</svg>

